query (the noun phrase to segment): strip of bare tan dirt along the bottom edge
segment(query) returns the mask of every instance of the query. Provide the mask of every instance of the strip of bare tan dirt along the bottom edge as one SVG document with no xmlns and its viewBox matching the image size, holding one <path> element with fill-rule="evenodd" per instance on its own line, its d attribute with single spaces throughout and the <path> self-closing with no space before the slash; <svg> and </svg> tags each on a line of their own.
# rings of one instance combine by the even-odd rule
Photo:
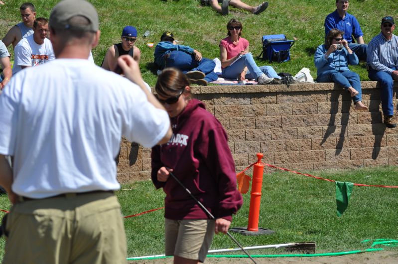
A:
<svg viewBox="0 0 398 264">
<path fill-rule="evenodd" d="M 397 264 L 398 252 L 377 251 L 337 257 L 309 257 L 309 258 L 256 258 L 258 264 Z M 171 264 L 172 259 L 146 260 L 129 262 L 130 264 Z M 250 259 L 208 258 L 205 263 L 211 264 L 251 264 Z"/>
</svg>

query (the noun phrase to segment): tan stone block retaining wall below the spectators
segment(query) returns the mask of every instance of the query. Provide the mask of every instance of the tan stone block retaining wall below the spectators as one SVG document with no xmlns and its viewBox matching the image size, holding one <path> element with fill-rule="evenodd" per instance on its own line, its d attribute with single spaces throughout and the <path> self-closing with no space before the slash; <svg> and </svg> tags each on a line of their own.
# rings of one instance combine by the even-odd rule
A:
<svg viewBox="0 0 398 264">
<path fill-rule="evenodd" d="M 395 91 L 398 84 L 395 84 Z M 257 161 L 287 169 L 398 165 L 398 130 L 383 124 L 380 88 L 362 82 L 369 112 L 330 84 L 193 87 L 228 132 L 237 172 Z M 397 107 L 397 93 L 394 96 Z M 150 149 L 122 140 L 118 179 L 150 178 Z"/>
</svg>

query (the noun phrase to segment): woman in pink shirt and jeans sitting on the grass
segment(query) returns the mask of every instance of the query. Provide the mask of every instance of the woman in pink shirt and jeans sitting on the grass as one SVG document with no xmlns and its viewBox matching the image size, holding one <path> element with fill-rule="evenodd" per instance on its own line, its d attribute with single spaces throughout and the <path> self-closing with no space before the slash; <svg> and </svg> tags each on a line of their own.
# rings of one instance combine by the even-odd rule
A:
<svg viewBox="0 0 398 264">
<path fill-rule="evenodd" d="M 242 23 L 233 18 L 227 24 L 228 37 L 220 42 L 220 59 L 223 76 L 228 79 L 256 79 L 265 85 L 280 79 L 271 66 L 258 67 L 249 52 L 249 41 L 243 37 Z"/>
</svg>

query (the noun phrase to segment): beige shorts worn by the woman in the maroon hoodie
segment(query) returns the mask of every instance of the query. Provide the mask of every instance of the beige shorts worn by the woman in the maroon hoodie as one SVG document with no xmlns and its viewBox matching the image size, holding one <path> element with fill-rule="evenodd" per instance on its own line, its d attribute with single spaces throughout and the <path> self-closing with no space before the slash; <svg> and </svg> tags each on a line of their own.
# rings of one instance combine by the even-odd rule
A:
<svg viewBox="0 0 398 264">
<path fill-rule="evenodd" d="M 214 236 L 215 221 L 165 219 L 165 254 L 204 262 Z"/>
</svg>

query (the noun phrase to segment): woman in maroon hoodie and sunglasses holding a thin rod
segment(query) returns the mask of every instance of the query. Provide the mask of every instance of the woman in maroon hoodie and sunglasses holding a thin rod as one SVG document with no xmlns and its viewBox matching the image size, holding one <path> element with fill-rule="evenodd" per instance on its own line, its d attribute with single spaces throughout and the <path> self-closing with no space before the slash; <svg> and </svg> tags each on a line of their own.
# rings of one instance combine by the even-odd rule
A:
<svg viewBox="0 0 398 264">
<path fill-rule="evenodd" d="M 228 231 L 232 214 L 243 203 L 227 133 L 201 101 L 191 98 L 188 79 L 179 70 L 163 70 L 155 89 L 173 130 L 169 142 L 153 147 L 151 153 L 153 184 L 166 193 L 165 254 L 174 256 L 174 263 L 204 262 L 214 233 Z M 216 220 L 210 219 L 169 172 Z"/>
</svg>

